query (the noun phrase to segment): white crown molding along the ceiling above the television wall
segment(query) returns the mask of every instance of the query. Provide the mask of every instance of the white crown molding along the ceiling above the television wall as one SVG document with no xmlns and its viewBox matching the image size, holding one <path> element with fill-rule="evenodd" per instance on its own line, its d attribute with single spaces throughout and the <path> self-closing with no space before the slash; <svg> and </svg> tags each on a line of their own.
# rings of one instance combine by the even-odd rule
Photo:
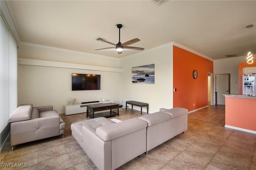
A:
<svg viewBox="0 0 256 170">
<path fill-rule="evenodd" d="M 113 59 L 113 60 L 119 60 L 114 57 L 108 57 L 104 55 L 96 55 L 92 53 L 85 53 L 81 51 L 74 51 L 74 50 L 68 50 L 68 49 L 62 49 L 58 47 L 50 47 L 47 45 L 39 45 L 39 44 L 34 44 L 34 43 L 26 43 L 26 42 L 21 42 L 20 45 L 28 46 L 28 47 L 36 47 L 36 48 L 41 48 L 41 49 L 49 49 L 49 50 L 54 50 L 54 51 L 61 51 L 65 53 L 73 53 L 73 54 L 78 54 L 78 55 L 86 55 L 86 56 L 91 56 L 91 57 L 99 57 L 99 58 L 108 58 L 108 59 Z"/>
</svg>

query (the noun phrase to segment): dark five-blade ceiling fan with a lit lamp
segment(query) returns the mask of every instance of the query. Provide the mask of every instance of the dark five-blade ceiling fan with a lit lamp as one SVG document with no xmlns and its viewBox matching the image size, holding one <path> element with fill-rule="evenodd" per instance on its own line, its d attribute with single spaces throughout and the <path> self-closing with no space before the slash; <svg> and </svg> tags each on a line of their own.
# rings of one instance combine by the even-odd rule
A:
<svg viewBox="0 0 256 170">
<path fill-rule="evenodd" d="M 119 29 L 119 42 L 117 44 L 114 44 L 114 43 L 110 43 L 110 42 L 106 41 L 105 39 L 98 38 L 97 39 L 98 41 L 103 41 L 105 43 L 108 43 L 108 44 L 116 46 L 116 47 L 108 47 L 108 48 L 103 48 L 103 49 L 116 48 L 116 51 L 117 51 L 118 54 L 122 54 L 124 49 L 144 50 L 144 48 L 140 48 L 140 47 L 130 47 L 130 46 L 127 46 L 127 45 L 131 45 L 133 43 L 137 43 L 138 41 L 140 41 L 140 39 L 138 39 L 138 38 L 131 39 L 129 41 L 126 41 L 125 43 L 121 43 L 120 42 L 120 29 L 122 28 L 123 25 L 122 24 L 117 24 L 116 26 Z M 103 49 L 96 49 L 96 50 L 103 50 Z"/>
</svg>

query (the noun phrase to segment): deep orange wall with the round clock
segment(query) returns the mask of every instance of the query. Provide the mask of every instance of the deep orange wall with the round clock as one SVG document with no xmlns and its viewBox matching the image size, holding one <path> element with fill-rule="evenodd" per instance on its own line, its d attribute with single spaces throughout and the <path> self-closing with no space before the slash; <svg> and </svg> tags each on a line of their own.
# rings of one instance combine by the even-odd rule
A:
<svg viewBox="0 0 256 170">
<path fill-rule="evenodd" d="M 198 72 L 197 79 L 193 70 Z M 177 89 L 173 107 L 192 111 L 208 106 L 208 72 L 213 73 L 213 61 L 173 46 L 173 88 Z"/>
</svg>

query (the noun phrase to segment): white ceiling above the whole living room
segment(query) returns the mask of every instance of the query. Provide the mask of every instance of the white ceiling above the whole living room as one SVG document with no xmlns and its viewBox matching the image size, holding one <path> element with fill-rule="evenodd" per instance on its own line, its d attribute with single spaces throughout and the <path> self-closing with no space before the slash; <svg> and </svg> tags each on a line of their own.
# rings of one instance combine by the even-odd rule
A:
<svg viewBox="0 0 256 170">
<path fill-rule="evenodd" d="M 118 43 L 138 38 L 130 46 L 150 49 L 172 41 L 210 59 L 225 55 L 256 54 L 256 1 L 152 0 L 11 0 L 6 1 L 22 42 L 122 58 L 140 51 L 114 47 L 98 37 Z M 253 24 L 251 29 L 247 25 Z"/>
</svg>

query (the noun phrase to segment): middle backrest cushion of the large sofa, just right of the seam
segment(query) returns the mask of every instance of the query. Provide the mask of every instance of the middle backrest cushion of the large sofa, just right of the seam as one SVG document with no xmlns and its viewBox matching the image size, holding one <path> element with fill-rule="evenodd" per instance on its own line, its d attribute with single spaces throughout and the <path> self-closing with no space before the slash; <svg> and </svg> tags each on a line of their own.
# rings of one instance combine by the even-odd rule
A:
<svg viewBox="0 0 256 170">
<path fill-rule="evenodd" d="M 158 123 L 170 120 L 171 116 L 167 113 L 158 111 L 156 113 L 143 115 L 143 116 L 139 117 L 139 119 L 146 121 L 148 123 L 148 127 L 150 127 L 150 126 L 156 125 Z"/>
</svg>

